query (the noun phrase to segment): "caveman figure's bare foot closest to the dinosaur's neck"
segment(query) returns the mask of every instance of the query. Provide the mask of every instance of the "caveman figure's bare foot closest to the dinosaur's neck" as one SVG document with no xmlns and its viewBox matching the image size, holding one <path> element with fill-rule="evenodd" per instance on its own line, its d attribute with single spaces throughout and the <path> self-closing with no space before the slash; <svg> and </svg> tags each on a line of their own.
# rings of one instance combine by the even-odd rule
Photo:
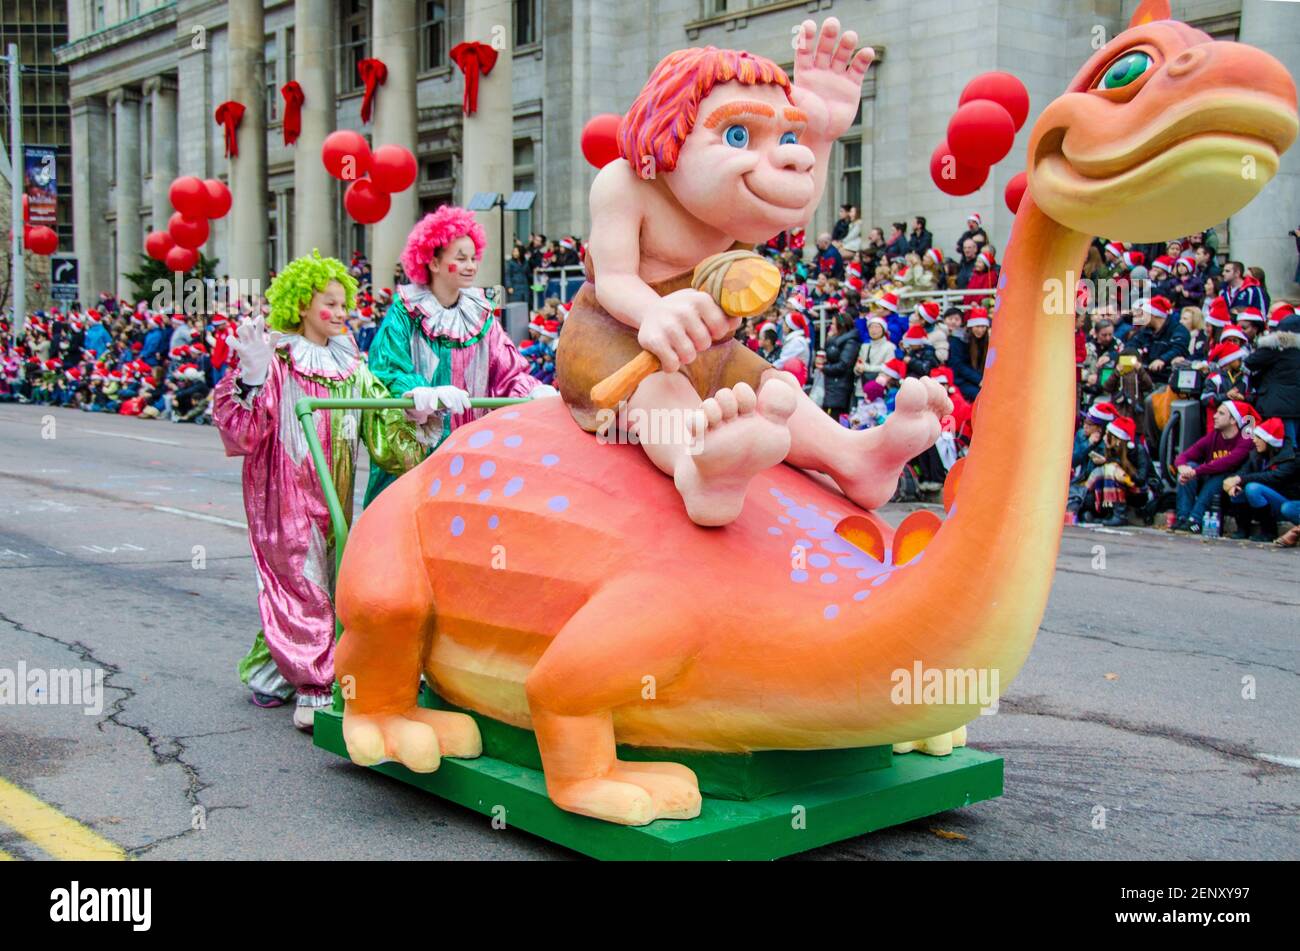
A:
<svg viewBox="0 0 1300 951">
<path fill-rule="evenodd" d="M 941 420 L 953 412 L 939 381 L 907 378 L 898 387 L 894 412 L 884 425 L 854 434 L 842 459 L 829 460 L 840 490 L 862 508 L 884 505 L 898 487 L 898 473 L 939 440 Z"/>
</svg>

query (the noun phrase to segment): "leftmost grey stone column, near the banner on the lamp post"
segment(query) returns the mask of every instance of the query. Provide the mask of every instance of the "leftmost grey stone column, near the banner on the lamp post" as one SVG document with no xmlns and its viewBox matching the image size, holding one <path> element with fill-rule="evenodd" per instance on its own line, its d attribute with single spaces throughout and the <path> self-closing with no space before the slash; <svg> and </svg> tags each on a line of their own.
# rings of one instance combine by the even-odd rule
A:
<svg viewBox="0 0 1300 951">
<path fill-rule="evenodd" d="M 108 142 L 108 110 L 103 99 L 77 99 L 72 104 L 73 144 L 73 252 L 77 255 L 82 304 L 91 307 L 100 291 L 117 286 L 117 261 L 104 240 L 108 214 L 108 171 L 98 149 Z"/>
</svg>

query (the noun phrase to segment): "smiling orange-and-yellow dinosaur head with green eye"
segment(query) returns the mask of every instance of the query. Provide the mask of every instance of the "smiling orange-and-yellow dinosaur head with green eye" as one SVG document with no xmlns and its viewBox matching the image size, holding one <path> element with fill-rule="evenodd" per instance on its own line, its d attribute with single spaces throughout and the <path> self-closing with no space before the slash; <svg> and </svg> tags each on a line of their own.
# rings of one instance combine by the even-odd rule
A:
<svg viewBox="0 0 1300 951">
<path fill-rule="evenodd" d="M 1191 234 L 1269 183 L 1296 127 L 1280 62 L 1169 19 L 1167 0 L 1143 0 L 1035 123 L 1030 194 L 1083 234 Z"/>
</svg>

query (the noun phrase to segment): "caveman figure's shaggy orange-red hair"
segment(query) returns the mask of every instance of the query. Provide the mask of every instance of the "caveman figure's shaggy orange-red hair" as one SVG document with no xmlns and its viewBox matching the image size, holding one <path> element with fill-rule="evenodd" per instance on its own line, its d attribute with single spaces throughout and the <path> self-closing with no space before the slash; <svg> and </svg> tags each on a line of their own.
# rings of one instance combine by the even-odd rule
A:
<svg viewBox="0 0 1300 951">
<path fill-rule="evenodd" d="M 619 153 L 637 174 L 642 174 L 645 156 L 654 157 L 655 171 L 672 171 L 681 143 L 696 127 L 701 100 L 715 84 L 732 79 L 780 86 L 790 97 L 785 70 L 763 56 L 716 47 L 679 49 L 659 60 L 619 123 Z"/>
</svg>

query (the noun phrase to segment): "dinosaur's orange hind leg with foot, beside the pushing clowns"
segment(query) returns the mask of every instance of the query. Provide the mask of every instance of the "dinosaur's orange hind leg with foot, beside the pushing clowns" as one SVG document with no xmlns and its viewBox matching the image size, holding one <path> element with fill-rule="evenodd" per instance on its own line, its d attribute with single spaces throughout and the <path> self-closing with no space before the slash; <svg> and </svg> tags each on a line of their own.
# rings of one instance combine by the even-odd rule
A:
<svg viewBox="0 0 1300 951">
<path fill-rule="evenodd" d="M 352 761 L 395 760 L 430 773 L 443 756 L 482 752 L 464 713 L 417 704 L 433 633 L 433 591 L 411 512 L 425 486 L 400 479 L 358 520 L 343 552 L 337 592 L 343 638 L 335 668 L 346 698 L 343 741 Z"/>
</svg>

